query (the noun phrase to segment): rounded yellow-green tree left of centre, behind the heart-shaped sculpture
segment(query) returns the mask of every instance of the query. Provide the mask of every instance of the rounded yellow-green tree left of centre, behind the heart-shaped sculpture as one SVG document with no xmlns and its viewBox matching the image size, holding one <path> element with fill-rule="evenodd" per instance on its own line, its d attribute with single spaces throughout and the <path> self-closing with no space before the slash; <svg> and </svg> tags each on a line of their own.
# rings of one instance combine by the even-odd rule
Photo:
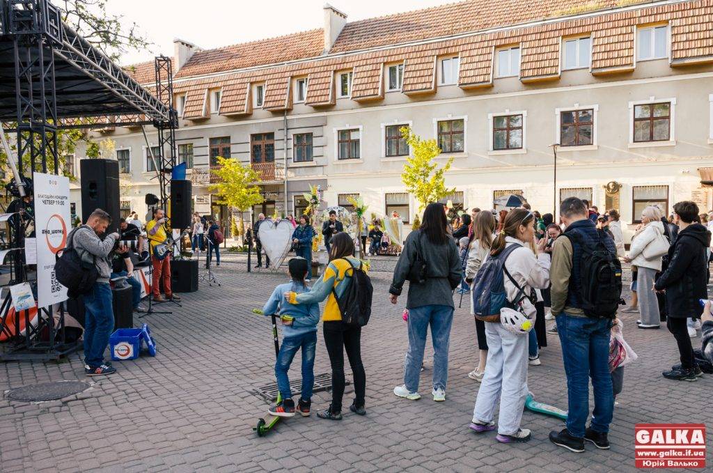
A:
<svg viewBox="0 0 713 473">
<path fill-rule="evenodd" d="M 235 208 L 240 212 L 240 228 L 245 228 L 242 213 L 250 210 L 253 205 L 262 203 L 260 195 L 260 176 L 250 166 L 243 166 L 240 161 L 218 156 L 216 168 L 211 171 L 219 182 L 211 184 L 209 189 L 215 191 L 217 203 Z"/>
</svg>

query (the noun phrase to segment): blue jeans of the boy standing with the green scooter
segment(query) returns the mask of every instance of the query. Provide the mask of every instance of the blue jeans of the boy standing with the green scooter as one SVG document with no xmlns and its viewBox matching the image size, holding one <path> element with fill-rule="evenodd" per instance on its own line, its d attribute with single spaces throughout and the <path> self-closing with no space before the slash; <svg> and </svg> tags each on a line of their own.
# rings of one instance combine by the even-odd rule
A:
<svg viewBox="0 0 713 473">
<path fill-rule="evenodd" d="M 294 337 L 282 339 L 282 346 L 279 347 L 277 363 L 275 363 L 275 377 L 277 377 L 277 388 L 282 399 L 292 399 L 292 390 L 289 388 L 289 365 L 292 364 L 294 354 L 302 348 L 302 399 L 309 401 L 312 399 L 312 387 L 314 386 L 314 350 L 317 349 L 317 331 L 307 332 Z"/>
</svg>

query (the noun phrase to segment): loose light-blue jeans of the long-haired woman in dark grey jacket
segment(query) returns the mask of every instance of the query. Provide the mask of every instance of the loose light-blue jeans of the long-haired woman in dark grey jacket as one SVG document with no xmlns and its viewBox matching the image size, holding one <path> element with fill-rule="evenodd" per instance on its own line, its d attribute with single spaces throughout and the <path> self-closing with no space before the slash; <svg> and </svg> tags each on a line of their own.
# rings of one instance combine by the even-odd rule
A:
<svg viewBox="0 0 713 473">
<path fill-rule="evenodd" d="M 409 350 L 404 362 L 404 385 L 410 392 L 419 390 L 421 365 L 424 362 L 426 333 L 431 325 L 434 345 L 434 389 L 446 389 L 448 382 L 448 343 L 451 340 L 453 307 L 424 305 L 409 309 Z"/>
</svg>

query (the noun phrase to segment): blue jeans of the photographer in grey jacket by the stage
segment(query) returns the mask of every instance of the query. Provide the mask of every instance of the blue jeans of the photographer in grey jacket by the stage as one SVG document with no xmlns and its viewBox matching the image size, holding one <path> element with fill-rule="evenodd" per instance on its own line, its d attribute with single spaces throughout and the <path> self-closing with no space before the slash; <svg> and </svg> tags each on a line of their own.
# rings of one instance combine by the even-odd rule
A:
<svg viewBox="0 0 713 473">
<path fill-rule="evenodd" d="M 114 327 L 109 283 L 94 283 L 84 295 L 84 363 L 96 368 L 104 362 L 104 350 Z"/>
</svg>

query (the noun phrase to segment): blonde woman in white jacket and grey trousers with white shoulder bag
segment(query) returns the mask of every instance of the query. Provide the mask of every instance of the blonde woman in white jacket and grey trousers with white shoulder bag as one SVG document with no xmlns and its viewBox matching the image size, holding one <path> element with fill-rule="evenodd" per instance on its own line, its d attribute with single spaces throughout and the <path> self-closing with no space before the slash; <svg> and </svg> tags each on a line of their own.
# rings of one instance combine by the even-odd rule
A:
<svg viewBox="0 0 713 473">
<path fill-rule="evenodd" d="M 644 228 L 639 230 L 631 242 L 629 254 L 624 258 L 638 268 L 637 295 L 639 297 L 639 328 L 659 328 L 661 326 L 659 304 L 654 292 L 656 273 L 661 270 L 661 258 L 668 252 L 670 243 L 664 235 L 661 210 L 649 205 L 641 213 Z"/>
</svg>

